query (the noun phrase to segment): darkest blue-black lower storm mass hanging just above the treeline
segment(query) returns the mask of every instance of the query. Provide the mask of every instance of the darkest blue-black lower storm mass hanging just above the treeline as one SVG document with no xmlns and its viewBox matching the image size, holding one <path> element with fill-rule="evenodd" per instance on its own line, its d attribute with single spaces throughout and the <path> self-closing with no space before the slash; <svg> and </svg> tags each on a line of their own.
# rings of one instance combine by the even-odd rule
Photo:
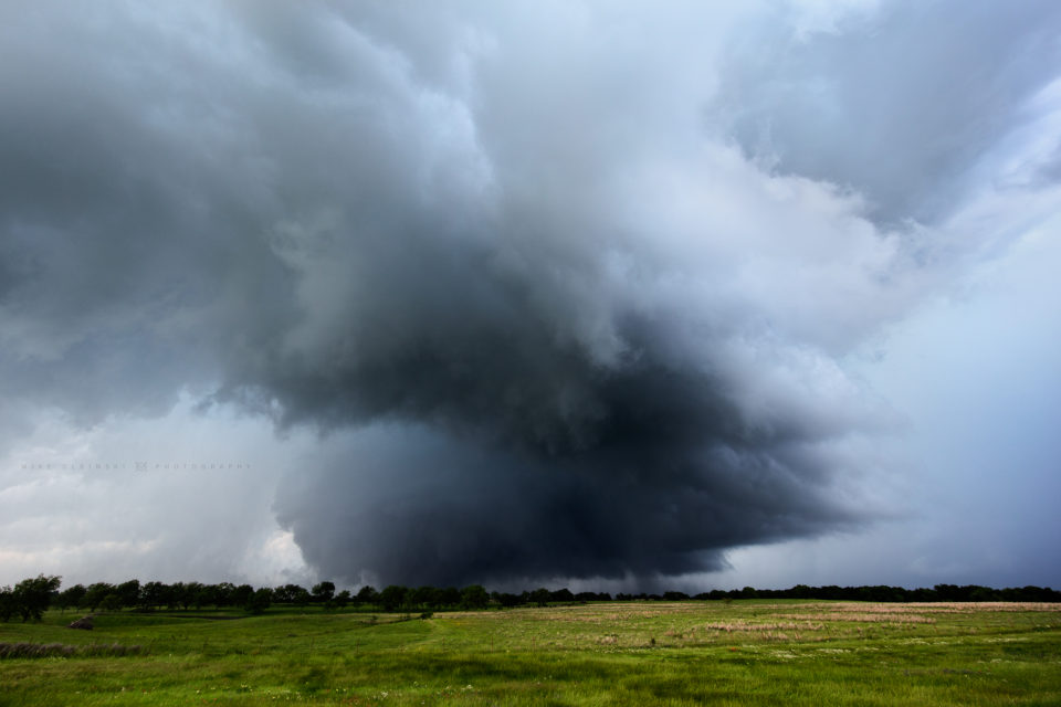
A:
<svg viewBox="0 0 1061 707">
<path fill-rule="evenodd" d="M 753 537 L 858 521 L 801 471 L 718 446 L 601 444 L 542 458 L 384 426 L 342 445 L 324 473 L 288 476 L 277 510 L 308 562 L 349 581 L 650 581 L 717 569 L 724 549 Z"/>
</svg>

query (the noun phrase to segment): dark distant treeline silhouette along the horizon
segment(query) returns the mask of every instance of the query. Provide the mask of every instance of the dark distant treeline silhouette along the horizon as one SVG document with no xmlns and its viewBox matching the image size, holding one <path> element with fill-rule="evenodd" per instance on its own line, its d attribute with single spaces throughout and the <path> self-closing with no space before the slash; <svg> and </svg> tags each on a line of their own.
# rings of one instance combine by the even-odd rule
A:
<svg viewBox="0 0 1061 707">
<path fill-rule="evenodd" d="M 689 601 L 735 599 L 823 599 L 873 602 L 1061 602 L 1061 592 L 1049 587 L 1020 587 L 991 589 L 978 584 L 936 584 L 932 589 L 905 589 L 903 587 L 808 587 L 797 584 L 790 589 L 734 589 L 713 590 L 698 594 L 669 591 L 661 594 L 578 592 L 568 589 L 549 590 L 538 588 L 518 594 L 512 592 L 487 592 L 479 584 L 458 589 L 455 587 L 401 587 L 391 584 L 381 591 L 374 587 L 361 587 L 357 592 L 335 591 L 333 582 L 321 582 L 311 589 L 298 584 L 282 587 L 253 588 L 250 584 L 203 584 L 201 582 L 144 582 L 132 579 L 120 584 L 95 582 L 74 584 L 59 590 L 61 578 L 43 574 L 25 579 L 14 585 L 0 588 L 0 621 L 19 616 L 22 621 L 40 621 L 50 606 L 59 609 L 81 609 L 90 612 L 118 611 L 136 609 L 155 611 L 160 609 L 201 610 L 204 608 L 243 609 L 251 613 L 261 613 L 271 605 L 308 606 L 317 605 L 325 610 L 346 609 L 347 606 L 379 611 L 447 611 L 468 609 L 489 609 L 491 606 L 511 609 L 514 606 L 546 606 L 549 604 L 572 604 L 590 601 Z"/>
</svg>

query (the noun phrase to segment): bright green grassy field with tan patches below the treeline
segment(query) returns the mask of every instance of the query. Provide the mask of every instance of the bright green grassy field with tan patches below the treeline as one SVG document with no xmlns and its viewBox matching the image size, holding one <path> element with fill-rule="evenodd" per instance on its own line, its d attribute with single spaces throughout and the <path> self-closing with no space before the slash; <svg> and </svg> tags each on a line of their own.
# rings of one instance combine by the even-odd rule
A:
<svg viewBox="0 0 1061 707">
<path fill-rule="evenodd" d="M 123 612 L 66 629 L 77 615 L 0 624 L 0 652 L 44 654 L 0 658 L 0 705 L 1061 705 L 1057 604 Z"/>
</svg>

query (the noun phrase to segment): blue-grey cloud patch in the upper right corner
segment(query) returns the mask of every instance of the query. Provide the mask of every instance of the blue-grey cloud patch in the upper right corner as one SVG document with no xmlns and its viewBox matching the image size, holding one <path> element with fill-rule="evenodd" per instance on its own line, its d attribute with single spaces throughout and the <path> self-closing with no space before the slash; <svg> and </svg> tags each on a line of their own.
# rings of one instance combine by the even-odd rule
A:
<svg viewBox="0 0 1061 707">
<path fill-rule="evenodd" d="M 832 32 L 734 40 L 713 122 L 785 172 L 849 186 L 885 222 L 945 218 L 984 152 L 1057 76 L 1061 8 L 889 2 Z"/>
</svg>

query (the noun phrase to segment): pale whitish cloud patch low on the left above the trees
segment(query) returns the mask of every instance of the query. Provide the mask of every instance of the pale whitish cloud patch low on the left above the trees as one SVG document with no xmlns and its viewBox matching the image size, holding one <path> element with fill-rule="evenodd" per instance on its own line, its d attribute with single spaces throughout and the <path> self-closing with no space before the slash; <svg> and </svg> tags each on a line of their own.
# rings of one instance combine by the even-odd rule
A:
<svg viewBox="0 0 1061 707">
<path fill-rule="evenodd" d="M 305 578 L 270 510 L 305 444 L 264 420 L 197 413 L 188 397 L 160 419 L 91 430 L 49 415 L 0 465 L 0 582 Z"/>
</svg>

